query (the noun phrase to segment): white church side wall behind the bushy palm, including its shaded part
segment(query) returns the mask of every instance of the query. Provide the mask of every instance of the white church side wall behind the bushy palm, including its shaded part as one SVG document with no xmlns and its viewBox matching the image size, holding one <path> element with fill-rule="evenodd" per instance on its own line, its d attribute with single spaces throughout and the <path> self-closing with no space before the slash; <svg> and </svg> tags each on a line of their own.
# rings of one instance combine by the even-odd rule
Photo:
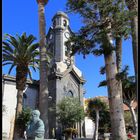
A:
<svg viewBox="0 0 140 140">
<path fill-rule="evenodd" d="M 27 98 L 23 100 L 24 107 L 35 109 L 37 105 L 38 89 L 37 87 L 27 87 L 25 90 Z M 5 82 L 3 86 L 3 105 L 6 107 L 6 112 L 2 117 L 2 132 L 8 140 L 12 140 L 15 111 L 17 103 L 17 89 L 14 82 Z"/>
</svg>

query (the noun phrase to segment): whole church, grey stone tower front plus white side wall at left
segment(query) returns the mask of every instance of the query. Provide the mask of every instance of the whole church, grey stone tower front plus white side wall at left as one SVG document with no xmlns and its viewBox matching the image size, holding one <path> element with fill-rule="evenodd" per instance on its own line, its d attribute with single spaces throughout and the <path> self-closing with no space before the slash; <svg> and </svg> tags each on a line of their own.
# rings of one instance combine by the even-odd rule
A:
<svg viewBox="0 0 140 140">
<path fill-rule="evenodd" d="M 49 90 L 49 108 L 56 107 L 56 105 L 64 97 L 78 97 L 81 105 L 83 105 L 85 80 L 82 72 L 75 66 L 74 56 L 70 57 L 69 48 L 66 47 L 65 42 L 71 36 L 72 31 L 69 26 L 69 18 L 64 12 L 57 12 L 52 19 L 52 26 L 47 35 L 47 51 L 52 54 L 51 63 L 48 71 L 48 90 Z M 16 86 L 15 77 L 3 76 L 3 105 L 7 106 L 7 113 L 3 115 L 3 132 L 7 133 L 7 137 L 11 137 L 11 109 L 12 117 L 14 118 L 16 108 Z M 7 88 L 8 87 L 8 88 Z M 10 89 L 13 90 L 10 90 Z M 13 102 L 9 102 L 10 94 L 13 96 Z M 24 93 L 23 105 L 35 109 L 38 107 L 39 97 L 39 81 L 27 81 L 27 88 Z M 13 107 L 11 108 L 11 104 Z M 55 111 L 49 111 L 49 135 L 53 137 L 53 131 L 59 127 Z M 6 122 L 6 117 L 8 121 Z M 14 119 L 13 119 L 14 120 Z M 7 123 L 6 127 L 5 123 Z M 77 123 L 79 137 L 83 134 L 83 123 Z"/>
</svg>

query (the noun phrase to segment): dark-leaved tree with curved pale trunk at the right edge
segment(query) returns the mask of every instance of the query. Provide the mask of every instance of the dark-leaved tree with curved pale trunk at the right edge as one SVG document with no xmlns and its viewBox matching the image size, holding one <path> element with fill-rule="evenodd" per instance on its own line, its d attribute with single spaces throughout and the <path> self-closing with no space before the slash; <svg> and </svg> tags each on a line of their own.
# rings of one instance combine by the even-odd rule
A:
<svg viewBox="0 0 140 140">
<path fill-rule="evenodd" d="M 133 103 L 136 102 L 136 80 L 135 80 L 135 76 L 128 76 L 129 74 L 128 70 L 129 67 L 125 66 L 125 68 L 116 75 L 116 78 L 122 81 L 123 103 L 129 108 L 131 112 L 133 129 L 134 129 L 134 133 L 136 133 L 137 118 L 133 108 Z M 107 85 L 107 81 L 104 80 L 100 82 L 99 87 L 106 86 L 106 85 Z"/>
</svg>

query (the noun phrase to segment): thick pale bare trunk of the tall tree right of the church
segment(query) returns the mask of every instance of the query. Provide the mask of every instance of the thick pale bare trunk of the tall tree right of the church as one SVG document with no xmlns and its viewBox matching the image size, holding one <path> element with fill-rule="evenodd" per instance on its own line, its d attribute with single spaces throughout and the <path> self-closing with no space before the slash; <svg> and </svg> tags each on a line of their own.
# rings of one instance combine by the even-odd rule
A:
<svg viewBox="0 0 140 140">
<path fill-rule="evenodd" d="M 112 137 L 113 140 L 126 140 L 122 88 L 120 82 L 115 78 L 117 68 L 114 60 L 114 53 L 112 52 L 108 55 L 104 55 L 104 59 L 106 66 Z"/>
</svg>

